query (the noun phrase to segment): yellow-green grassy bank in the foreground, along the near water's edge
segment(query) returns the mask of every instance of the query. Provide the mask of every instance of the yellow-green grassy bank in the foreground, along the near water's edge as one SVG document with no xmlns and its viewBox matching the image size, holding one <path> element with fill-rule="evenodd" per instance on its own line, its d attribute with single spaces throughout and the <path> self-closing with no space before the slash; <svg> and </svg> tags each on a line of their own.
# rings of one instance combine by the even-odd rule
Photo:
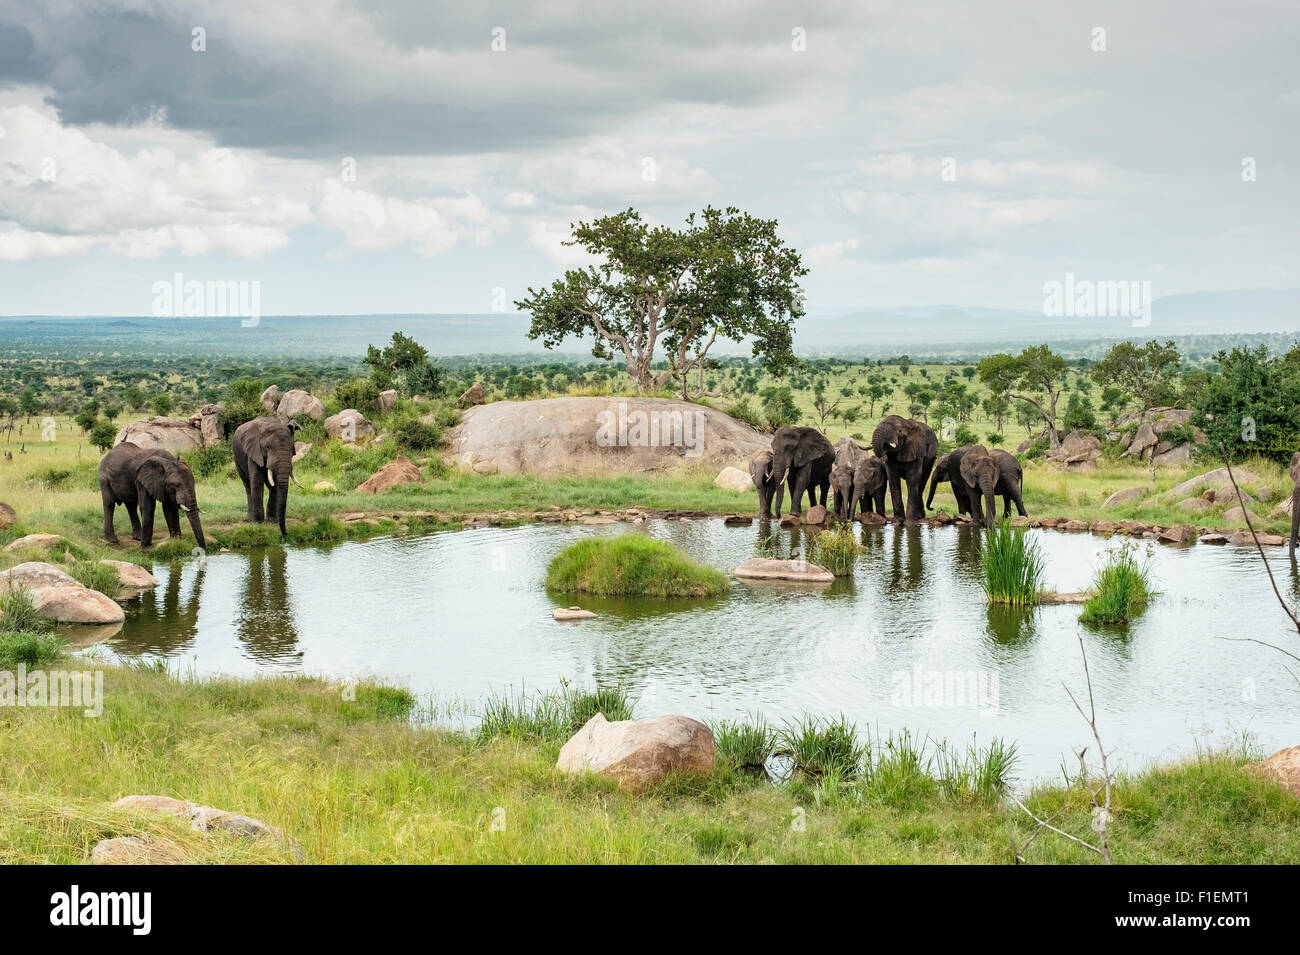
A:
<svg viewBox="0 0 1300 955">
<path fill-rule="evenodd" d="M 901 760 L 857 782 L 829 774 L 786 786 L 719 760 L 712 777 L 632 798 L 555 773 L 563 734 L 471 738 L 412 725 L 400 690 L 347 695 L 306 677 L 109 668 L 99 719 L 0 708 L 0 863 L 78 863 L 125 834 L 165 838 L 196 863 L 289 861 L 273 845 L 108 808 L 129 794 L 256 816 L 283 826 L 312 863 L 1009 863 L 1013 839 L 1031 833 L 1014 807 L 928 785 Z M 1122 780 L 1117 861 L 1300 861 L 1300 800 L 1242 761 L 1205 756 Z M 1026 802 L 1048 816 L 1067 807 L 1054 825 L 1089 833 L 1078 787 L 1040 787 Z M 498 808 L 504 829 L 491 832 Z M 1052 834 L 1026 856 L 1093 861 Z"/>
</svg>

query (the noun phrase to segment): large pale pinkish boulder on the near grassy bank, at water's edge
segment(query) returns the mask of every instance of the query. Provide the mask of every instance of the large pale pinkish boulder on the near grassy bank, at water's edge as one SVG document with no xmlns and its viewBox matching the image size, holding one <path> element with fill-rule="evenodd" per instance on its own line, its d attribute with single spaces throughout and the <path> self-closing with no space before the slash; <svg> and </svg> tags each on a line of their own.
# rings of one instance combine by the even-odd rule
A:
<svg viewBox="0 0 1300 955">
<path fill-rule="evenodd" d="M 616 780 L 627 793 L 644 793 L 668 773 L 711 774 L 712 730 L 688 716 L 610 722 L 597 713 L 560 748 L 562 773 L 592 772 Z"/>
</svg>

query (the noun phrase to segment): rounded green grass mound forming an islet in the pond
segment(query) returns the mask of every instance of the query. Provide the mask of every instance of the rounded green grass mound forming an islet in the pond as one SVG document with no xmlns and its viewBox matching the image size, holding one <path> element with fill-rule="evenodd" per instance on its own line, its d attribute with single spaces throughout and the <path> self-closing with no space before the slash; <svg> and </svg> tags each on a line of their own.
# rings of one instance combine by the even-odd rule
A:
<svg viewBox="0 0 1300 955">
<path fill-rule="evenodd" d="M 716 568 L 696 564 L 664 541 L 644 534 L 569 544 L 546 568 L 546 586 L 599 596 L 718 596 L 731 589 Z"/>
</svg>

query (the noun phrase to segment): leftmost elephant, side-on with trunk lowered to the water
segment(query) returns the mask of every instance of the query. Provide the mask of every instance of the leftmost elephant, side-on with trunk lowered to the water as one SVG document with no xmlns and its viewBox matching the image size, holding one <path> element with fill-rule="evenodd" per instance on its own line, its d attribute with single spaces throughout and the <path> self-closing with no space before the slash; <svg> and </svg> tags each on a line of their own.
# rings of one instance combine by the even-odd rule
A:
<svg viewBox="0 0 1300 955">
<path fill-rule="evenodd" d="M 194 472 L 166 451 L 147 451 L 124 440 L 99 463 L 99 495 L 104 502 L 104 539 L 112 544 L 118 542 L 113 531 L 113 508 L 118 504 L 126 507 L 131 518 L 131 538 L 140 542 L 143 551 L 153 543 L 153 505 L 161 503 L 172 537 L 181 537 L 181 511 L 185 511 L 194 539 L 203 550 L 208 547 L 199 521 Z"/>
</svg>

